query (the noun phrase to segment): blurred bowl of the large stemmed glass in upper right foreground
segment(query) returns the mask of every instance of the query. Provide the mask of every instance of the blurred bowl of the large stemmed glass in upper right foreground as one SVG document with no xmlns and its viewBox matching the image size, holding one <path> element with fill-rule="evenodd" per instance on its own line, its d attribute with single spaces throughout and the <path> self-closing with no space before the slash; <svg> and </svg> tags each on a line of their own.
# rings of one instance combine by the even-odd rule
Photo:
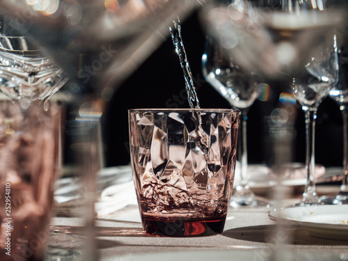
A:
<svg viewBox="0 0 348 261">
<path fill-rule="evenodd" d="M 215 0 L 203 24 L 239 67 L 271 79 L 290 79 L 323 49 L 345 22 L 342 0 Z M 324 45 L 325 47 L 325 45 Z"/>
</svg>

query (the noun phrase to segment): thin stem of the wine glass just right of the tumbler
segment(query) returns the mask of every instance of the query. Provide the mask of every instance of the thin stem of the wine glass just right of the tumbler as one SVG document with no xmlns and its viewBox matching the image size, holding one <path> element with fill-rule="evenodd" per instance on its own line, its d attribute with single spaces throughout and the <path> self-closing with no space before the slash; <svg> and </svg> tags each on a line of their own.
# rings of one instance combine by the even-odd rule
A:
<svg viewBox="0 0 348 261">
<path fill-rule="evenodd" d="M 247 152 L 247 143 L 246 143 L 246 120 L 248 116 L 246 116 L 246 111 L 241 111 L 241 123 L 242 123 L 242 132 L 239 132 L 239 141 L 242 143 L 239 148 L 241 151 L 241 184 L 245 186 L 248 184 L 248 152 Z"/>
</svg>

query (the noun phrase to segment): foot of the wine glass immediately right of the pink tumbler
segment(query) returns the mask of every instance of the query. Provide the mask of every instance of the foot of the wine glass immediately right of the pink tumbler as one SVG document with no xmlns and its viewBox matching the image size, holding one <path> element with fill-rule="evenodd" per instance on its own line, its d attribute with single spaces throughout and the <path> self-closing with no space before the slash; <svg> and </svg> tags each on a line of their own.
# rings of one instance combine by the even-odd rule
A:
<svg viewBox="0 0 348 261">
<path fill-rule="evenodd" d="M 232 194 L 230 207 L 257 207 L 258 200 L 255 199 L 253 190 L 248 185 L 237 186 Z"/>
</svg>

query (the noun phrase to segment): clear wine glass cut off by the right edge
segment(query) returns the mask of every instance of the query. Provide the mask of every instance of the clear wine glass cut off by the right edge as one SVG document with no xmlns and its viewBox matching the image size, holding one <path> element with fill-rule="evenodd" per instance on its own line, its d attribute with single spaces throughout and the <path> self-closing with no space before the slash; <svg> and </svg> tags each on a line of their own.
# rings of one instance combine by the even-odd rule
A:
<svg viewBox="0 0 348 261">
<path fill-rule="evenodd" d="M 320 202 L 325 205 L 346 205 L 348 204 L 348 86 L 347 86 L 347 65 L 348 59 L 342 53 L 339 56 L 340 79 L 339 83 L 330 90 L 330 97 L 340 106 L 343 125 L 343 173 L 340 191 L 335 197 L 322 196 Z"/>
</svg>

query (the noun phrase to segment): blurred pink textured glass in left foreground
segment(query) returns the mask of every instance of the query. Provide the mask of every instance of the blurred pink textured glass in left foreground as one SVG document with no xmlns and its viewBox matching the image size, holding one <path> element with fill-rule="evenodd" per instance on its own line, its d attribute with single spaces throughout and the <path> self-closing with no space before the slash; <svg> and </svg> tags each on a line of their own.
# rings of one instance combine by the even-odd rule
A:
<svg viewBox="0 0 348 261">
<path fill-rule="evenodd" d="M 0 260 L 42 260 L 58 172 L 61 113 L 0 102 Z"/>
</svg>

